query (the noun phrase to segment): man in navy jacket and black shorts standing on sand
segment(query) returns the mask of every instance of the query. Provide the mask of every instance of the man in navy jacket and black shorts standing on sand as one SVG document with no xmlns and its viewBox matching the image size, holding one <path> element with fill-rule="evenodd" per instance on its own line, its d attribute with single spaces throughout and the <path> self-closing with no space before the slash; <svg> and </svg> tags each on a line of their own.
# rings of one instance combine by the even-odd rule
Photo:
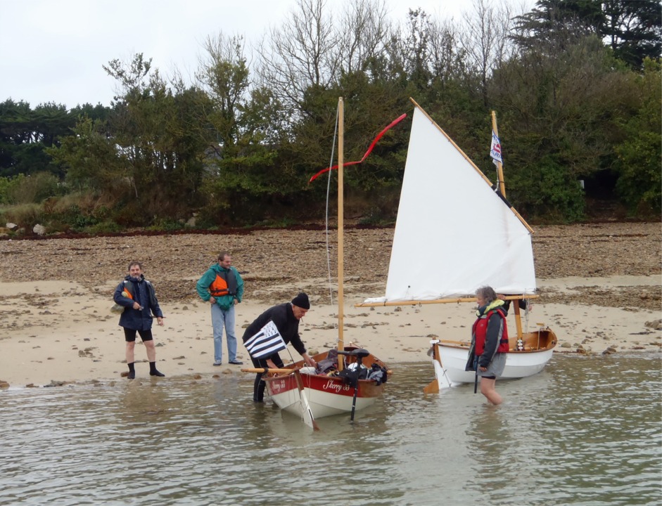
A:
<svg viewBox="0 0 662 506">
<path fill-rule="evenodd" d="M 120 316 L 120 327 L 124 327 L 125 341 L 127 342 L 127 365 L 129 366 L 129 380 L 136 377 L 134 369 L 134 348 L 136 346 L 136 332 L 145 344 L 149 360 L 150 376 L 165 376 L 156 370 L 156 349 L 152 337 L 152 320 L 156 316 L 158 325 L 163 325 L 163 312 L 158 305 L 154 287 L 145 279 L 143 266 L 139 261 L 129 264 L 129 275 L 115 289 L 113 300 L 124 306 Z"/>
</svg>

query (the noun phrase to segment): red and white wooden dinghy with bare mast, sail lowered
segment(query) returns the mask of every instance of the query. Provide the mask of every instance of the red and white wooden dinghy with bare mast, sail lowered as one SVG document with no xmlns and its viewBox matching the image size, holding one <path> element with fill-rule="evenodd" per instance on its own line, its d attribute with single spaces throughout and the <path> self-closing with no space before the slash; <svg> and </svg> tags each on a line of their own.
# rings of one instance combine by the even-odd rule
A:
<svg viewBox="0 0 662 506">
<path fill-rule="evenodd" d="M 267 392 L 279 408 L 301 415 L 304 422 L 317 428 L 317 418 L 363 410 L 376 401 L 383 393 L 388 370 L 385 363 L 372 353 L 357 346 L 344 344 L 344 297 L 343 297 L 343 99 L 338 100 L 338 374 L 318 374 L 314 368 L 305 367 L 298 361 L 285 368 L 272 370 L 274 375 L 266 376 Z M 317 362 L 328 358 L 329 351 L 312 356 Z M 352 380 L 352 375 L 343 375 L 345 369 L 367 368 L 368 377 Z M 250 371 L 254 371 L 250 369 Z M 372 374 L 370 371 L 373 371 Z M 381 372 L 380 372 L 381 371 Z M 268 373 L 267 373 L 268 374 Z M 380 380 L 369 379 L 378 377 Z M 349 377 L 349 379 L 348 379 Z"/>
</svg>

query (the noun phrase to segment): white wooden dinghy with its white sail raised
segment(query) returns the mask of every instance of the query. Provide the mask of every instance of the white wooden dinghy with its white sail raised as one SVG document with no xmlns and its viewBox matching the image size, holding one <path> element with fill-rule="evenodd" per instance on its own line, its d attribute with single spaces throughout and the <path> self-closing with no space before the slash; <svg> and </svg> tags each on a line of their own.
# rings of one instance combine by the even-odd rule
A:
<svg viewBox="0 0 662 506">
<path fill-rule="evenodd" d="M 556 335 L 542 324 L 523 332 L 518 300 L 533 299 L 533 230 L 505 200 L 502 167 L 499 186 L 476 167 L 431 117 L 414 103 L 412 131 L 397 212 L 386 295 L 359 307 L 475 302 L 489 285 L 516 300 L 516 332 L 502 377 L 540 372 L 552 357 Z M 494 119 L 495 122 L 495 119 Z M 496 130 L 496 124 L 494 124 Z M 466 342 L 435 339 L 431 356 L 436 380 L 426 392 L 473 382 L 464 367 Z"/>
</svg>

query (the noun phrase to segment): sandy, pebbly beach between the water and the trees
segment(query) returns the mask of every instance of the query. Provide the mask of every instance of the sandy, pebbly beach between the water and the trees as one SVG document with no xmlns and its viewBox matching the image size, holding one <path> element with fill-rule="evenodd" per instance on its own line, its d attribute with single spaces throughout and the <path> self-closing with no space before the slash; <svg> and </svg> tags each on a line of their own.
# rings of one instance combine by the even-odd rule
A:
<svg viewBox="0 0 662 506">
<path fill-rule="evenodd" d="M 431 336 L 467 339 L 471 304 L 356 308 L 383 294 L 392 228 L 352 228 L 345 234 L 345 342 L 369 349 L 389 365 L 426 361 Z M 534 253 L 540 298 L 529 330 L 549 325 L 558 353 L 660 351 L 660 223 L 601 223 L 537 228 Z M 303 290 L 312 309 L 300 332 L 310 353 L 336 343 L 336 238 L 324 231 L 122 235 L 0 241 L 0 381 L 12 388 L 126 381 L 113 290 L 129 260 L 144 262 L 165 314 L 155 325 L 158 368 L 167 377 L 243 374 L 213 367 L 210 309 L 195 294 L 199 276 L 219 250 L 231 252 L 246 282 L 238 305 L 238 357 L 243 328 L 273 304 Z M 329 283 L 326 250 L 331 254 Z M 330 288 L 331 287 L 331 288 Z M 332 292 L 336 297 L 336 293 Z M 144 346 L 136 344 L 136 377 L 148 377 Z M 299 356 L 291 347 L 293 358 Z M 281 356 L 287 361 L 288 353 Z M 145 361 L 141 363 L 141 361 Z M 159 380 L 159 381 L 163 381 Z"/>
</svg>

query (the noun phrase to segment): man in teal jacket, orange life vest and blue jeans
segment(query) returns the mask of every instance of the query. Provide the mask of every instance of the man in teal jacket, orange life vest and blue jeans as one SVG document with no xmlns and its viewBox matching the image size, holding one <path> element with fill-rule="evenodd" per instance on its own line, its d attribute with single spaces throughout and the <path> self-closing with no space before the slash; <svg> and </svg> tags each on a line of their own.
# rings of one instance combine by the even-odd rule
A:
<svg viewBox="0 0 662 506">
<path fill-rule="evenodd" d="M 237 338 L 234 335 L 234 306 L 241 302 L 243 280 L 231 264 L 230 255 L 220 252 L 217 263 L 208 268 L 196 284 L 200 299 L 209 302 L 212 308 L 214 365 L 221 365 L 223 358 L 223 327 L 227 335 L 228 363 L 243 363 L 237 360 Z"/>
</svg>

